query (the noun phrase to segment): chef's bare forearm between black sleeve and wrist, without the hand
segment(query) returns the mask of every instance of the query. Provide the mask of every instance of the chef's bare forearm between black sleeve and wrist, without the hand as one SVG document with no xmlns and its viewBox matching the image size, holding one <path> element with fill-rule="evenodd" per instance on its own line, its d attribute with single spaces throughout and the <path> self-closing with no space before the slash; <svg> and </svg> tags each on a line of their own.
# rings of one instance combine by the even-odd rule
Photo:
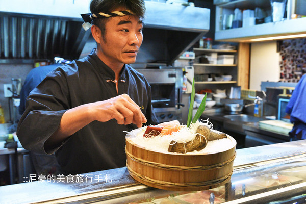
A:
<svg viewBox="0 0 306 204">
<path fill-rule="evenodd" d="M 81 130 L 93 120 L 92 111 L 87 104 L 67 110 L 61 118 L 58 129 L 44 143 L 45 149 L 58 146 L 62 141 Z"/>
</svg>

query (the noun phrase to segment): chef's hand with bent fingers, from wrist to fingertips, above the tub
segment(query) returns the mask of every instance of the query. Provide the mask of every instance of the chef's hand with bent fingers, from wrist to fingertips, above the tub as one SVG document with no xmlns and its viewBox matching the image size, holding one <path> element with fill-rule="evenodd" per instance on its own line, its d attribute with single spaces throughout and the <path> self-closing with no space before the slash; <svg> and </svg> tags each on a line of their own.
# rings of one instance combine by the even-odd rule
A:
<svg viewBox="0 0 306 204">
<path fill-rule="evenodd" d="M 147 119 L 141 112 L 140 107 L 127 94 L 118 95 L 104 101 L 92 104 L 93 117 L 100 122 L 116 119 L 118 124 L 134 123 L 137 127 L 142 127 Z"/>
</svg>

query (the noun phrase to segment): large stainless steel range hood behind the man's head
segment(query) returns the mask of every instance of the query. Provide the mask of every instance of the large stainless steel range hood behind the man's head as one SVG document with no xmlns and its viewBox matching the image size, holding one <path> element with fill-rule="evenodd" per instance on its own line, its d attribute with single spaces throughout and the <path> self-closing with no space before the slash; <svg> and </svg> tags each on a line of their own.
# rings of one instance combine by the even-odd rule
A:
<svg viewBox="0 0 306 204">
<path fill-rule="evenodd" d="M 79 59 L 95 46 L 78 14 L 88 12 L 88 1 L 62 12 L 58 11 L 62 5 L 56 5 L 59 1 L 35 5 L 35 10 L 24 9 L 34 6 L 34 0 L 18 6 L 14 2 L 6 1 L 0 11 L 0 63 L 52 60 L 56 55 Z M 144 40 L 136 64 L 169 65 L 209 30 L 209 9 L 151 1 L 145 5 Z"/>
</svg>

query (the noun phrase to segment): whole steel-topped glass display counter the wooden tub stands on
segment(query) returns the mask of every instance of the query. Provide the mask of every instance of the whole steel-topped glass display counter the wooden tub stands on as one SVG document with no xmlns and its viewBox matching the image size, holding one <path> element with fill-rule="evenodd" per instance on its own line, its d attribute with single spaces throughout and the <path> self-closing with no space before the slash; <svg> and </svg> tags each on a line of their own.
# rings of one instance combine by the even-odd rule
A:
<svg viewBox="0 0 306 204">
<path fill-rule="evenodd" d="M 123 167 L 83 175 L 99 181 L 81 182 L 81 175 L 70 175 L 61 182 L 3 186 L 0 203 L 306 203 L 306 140 L 236 151 L 231 181 L 210 190 L 148 187 L 133 180 Z"/>
</svg>

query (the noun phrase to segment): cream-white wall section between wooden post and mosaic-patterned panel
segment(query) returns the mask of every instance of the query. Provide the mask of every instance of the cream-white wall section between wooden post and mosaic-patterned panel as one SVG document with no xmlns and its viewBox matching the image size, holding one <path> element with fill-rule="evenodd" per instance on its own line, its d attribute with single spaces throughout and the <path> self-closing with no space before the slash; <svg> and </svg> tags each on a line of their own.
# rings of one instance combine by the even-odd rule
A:
<svg viewBox="0 0 306 204">
<path fill-rule="evenodd" d="M 278 82 L 279 53 L 276 41 L 251 43 L 249 88 L 261 90 L 261 82 Z"/>
</svg>

